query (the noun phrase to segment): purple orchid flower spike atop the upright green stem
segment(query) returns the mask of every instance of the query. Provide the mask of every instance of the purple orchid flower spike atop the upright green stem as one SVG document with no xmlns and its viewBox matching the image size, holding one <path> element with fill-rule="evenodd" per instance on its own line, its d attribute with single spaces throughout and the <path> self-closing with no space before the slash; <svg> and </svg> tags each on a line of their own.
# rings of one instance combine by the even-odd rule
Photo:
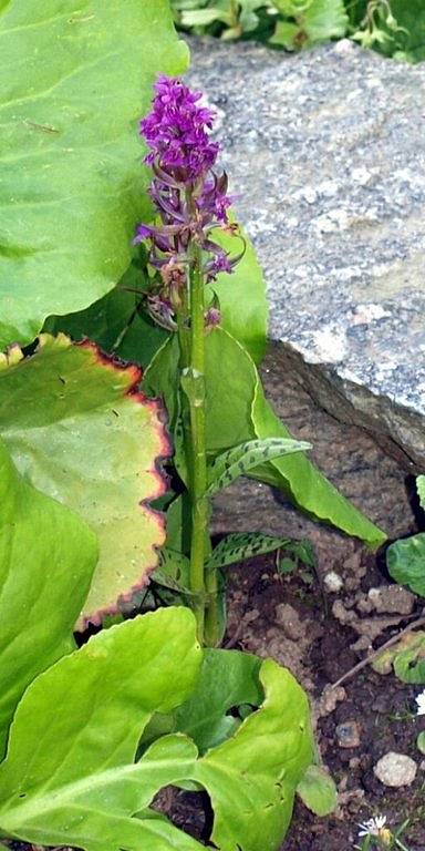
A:
<svg viewBox="0 0 425 851">
<path fill-rule="evenodd" d="M 199 103 L 201 96 L 180 80 L 162 75 L 155 83 L 153 109 L 139 124 L 149 147 L 144 162 L 154 172 L 148 193 L 160 224 L 139 224 L 134 243 L 149 240 L 148 262 L 158 276 L 147 308 L 169 330 L 177 329 L 176 314 L 187 315 L 191 245 L 201 249 L 205 284 L 221 271 L 231 273 L 245 250 L 243 245 L 231 257 L 211 239 L 215 228 L 238 234 L 238 226 L 227 216 L 232 202 L 227 175 L 214 171 L 219 153 L 218 143 L 210 139 L 215 113 Z M 219 319 L 216 306 L 206 311 L 207 326 Z"/>
</svg>

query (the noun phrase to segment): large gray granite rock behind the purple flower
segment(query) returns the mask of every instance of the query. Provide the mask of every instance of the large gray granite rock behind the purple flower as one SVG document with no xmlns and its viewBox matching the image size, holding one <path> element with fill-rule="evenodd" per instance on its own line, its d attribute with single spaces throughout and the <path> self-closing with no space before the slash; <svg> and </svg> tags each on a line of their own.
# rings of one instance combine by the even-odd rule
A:
<svg viewBox="0 0 425 851">
<path fill-rule="evenodd" d="M 425 466 L 425 64 L 349 41 L 190 43 L 262 263 L 270 337 L 322 407 Z"/>
</svg>

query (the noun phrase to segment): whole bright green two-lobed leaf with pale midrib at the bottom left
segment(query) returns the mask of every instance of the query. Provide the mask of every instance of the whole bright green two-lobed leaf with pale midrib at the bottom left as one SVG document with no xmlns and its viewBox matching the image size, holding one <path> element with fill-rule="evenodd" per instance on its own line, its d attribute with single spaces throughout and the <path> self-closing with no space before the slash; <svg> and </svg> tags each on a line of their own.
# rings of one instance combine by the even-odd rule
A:
<svg viewBox="0 0 425 851">
<path fill-rule="evenodd" d="M 133 761 L 152 714 L 189 696 L 199 656 L 193 615 L 169 608 L 99 634 L 42 674 L 17 709 L 0 768 L 0 833 L 87 851 L 195 851 L 148 809 L 163 786 L 193 781 L 210 794 L 218 848 L 278 848 L 312 739 L 305 695 L 276 663 L 260 669 L 261 708 L 205 757 L 172 735 Z"/>
</svg>

